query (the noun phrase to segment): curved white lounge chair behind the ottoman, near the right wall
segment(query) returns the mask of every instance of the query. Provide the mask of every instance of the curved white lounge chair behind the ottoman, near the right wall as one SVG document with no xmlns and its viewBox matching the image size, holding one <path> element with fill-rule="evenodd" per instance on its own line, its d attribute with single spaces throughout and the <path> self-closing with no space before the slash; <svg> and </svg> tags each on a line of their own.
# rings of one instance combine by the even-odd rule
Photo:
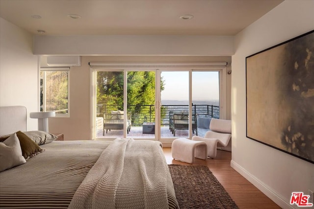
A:
<svg viewBox="0 0 314 209">
<path fill-rule="evenodd" d="M 209 124 L 210 131 L 206 132 L 204 138 L 193 136 L 192 140 L 205 141 L 207 144 L 207 156 L 215 158 L 217 145 L 227 147 L 231 142 L 231 120 L 212 118 Z"/>
</svg>

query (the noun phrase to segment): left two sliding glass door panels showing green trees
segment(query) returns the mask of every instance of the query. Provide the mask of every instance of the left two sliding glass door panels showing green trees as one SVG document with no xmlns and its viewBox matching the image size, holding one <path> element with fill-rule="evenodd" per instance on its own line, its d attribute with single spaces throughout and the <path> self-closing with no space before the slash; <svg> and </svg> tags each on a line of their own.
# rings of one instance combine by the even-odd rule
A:
<svg viewBox="0 0 314 209">
<path fill-rule="evenodd" d="M 95 72 L 96 138 L 155 139 L 155 73 Z"/>
</svg>

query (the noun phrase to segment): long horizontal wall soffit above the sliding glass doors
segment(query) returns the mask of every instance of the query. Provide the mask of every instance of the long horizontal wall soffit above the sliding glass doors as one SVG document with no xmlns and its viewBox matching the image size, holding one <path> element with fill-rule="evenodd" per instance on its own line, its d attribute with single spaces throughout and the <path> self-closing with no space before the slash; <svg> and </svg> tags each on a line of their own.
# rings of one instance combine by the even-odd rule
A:
<svg viewBox="0 0 314 209">
<path fill-rule="evenodd" d="M 35 36 L 39 55 L 234 54 L 233 36 Z"/>
</svg>

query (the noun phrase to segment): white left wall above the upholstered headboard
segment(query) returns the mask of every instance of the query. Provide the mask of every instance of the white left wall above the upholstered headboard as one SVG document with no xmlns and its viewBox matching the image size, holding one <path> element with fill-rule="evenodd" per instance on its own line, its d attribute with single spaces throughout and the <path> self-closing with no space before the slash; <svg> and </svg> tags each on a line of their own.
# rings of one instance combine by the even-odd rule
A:
<svg viewBox="0 0 314 209">
<path fill-rule="evenodd" d="M 0 18 L 0 106 L 27 108 L 27 130 L 38 130 L 38 58 L 33 55 L 33 36 Z"/>
</svg>

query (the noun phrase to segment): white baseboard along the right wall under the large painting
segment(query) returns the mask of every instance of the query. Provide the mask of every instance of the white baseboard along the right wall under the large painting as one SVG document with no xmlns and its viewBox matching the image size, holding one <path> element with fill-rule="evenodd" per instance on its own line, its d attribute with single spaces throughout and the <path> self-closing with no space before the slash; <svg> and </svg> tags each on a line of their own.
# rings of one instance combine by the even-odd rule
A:
<svg viewBox="0 0 314 209">
<path fill-rule="evenodd" d="M 247 179 L 250 183 L 256 186 L 258 189 L 262 191 L 267 197 L 269 197 L 272 201 L 274 201 L 279 207 L 283 209 L 295 209 L 292 205 L 289 204 L 290 200 L 285 199 L 282 195 L 274 191 L 271 187 L 265 185 L 258 178 L 251 175 L 247 170 L 241 167 L 239 164 L 231 161 L 231 167 L 235 169 L 239 174 L 241 174 L 245 179 Z"/>
</svg>

